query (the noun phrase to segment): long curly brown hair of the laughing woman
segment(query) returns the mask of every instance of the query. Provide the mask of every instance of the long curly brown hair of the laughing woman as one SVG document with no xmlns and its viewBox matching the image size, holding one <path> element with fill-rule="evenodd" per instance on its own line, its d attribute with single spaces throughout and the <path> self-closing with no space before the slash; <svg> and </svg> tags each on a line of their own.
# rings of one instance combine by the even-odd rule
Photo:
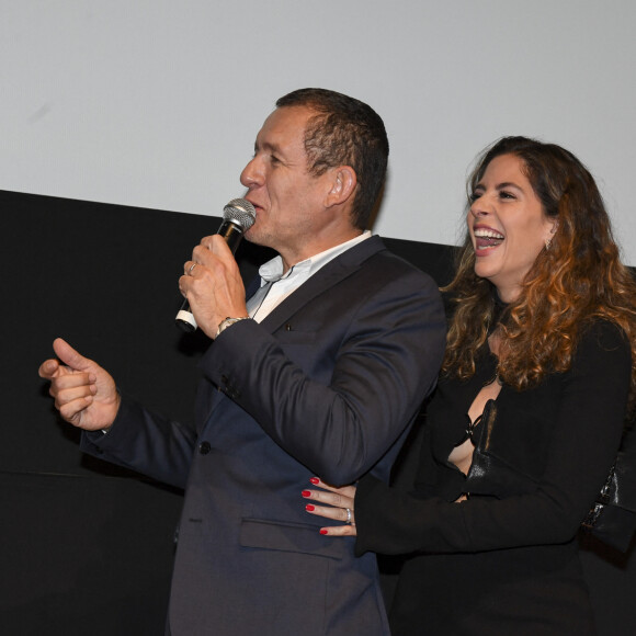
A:
<svg viewBox="0 0 636 636">
<path fill-rule="evenodd" d="M 543 205 L 558 219 L 549 249 L 537 255 L 525 275 L 519 298 L 500 323 L 499 377 L 516 389 L 536 385 L 546 374 L 567 371 L 578 336 L 591 318 L 617 325 L 636 361 L 636 283 L 621 263 L 610 218 L 597 184 L 568 150 L 526 137 L 504 137 L 487 148 L 468 181 L 468 195 L 492 159 L 513 155 Z M 468 203 L 468 206 L 470 204 Z M 475 274 L 475 250 L 466 234 L 457 272 L 443 289 L 456 309 L 451 320 L 442 372 L 468 378 L 486 343 L 497 303 L 492 284 Z M 635 402 L 636 365 L 629 402 Z"/>
</svg>

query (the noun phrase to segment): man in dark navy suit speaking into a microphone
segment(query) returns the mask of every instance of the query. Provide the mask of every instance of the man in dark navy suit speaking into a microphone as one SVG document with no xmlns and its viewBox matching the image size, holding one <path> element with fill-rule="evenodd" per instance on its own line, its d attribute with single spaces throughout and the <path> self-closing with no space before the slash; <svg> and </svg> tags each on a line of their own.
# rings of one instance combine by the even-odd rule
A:
<svg viewBox="0 0 636 636">
<path fill-rule="evenodd" d="M 388 634 L 373 555 L 320 534 L 300 491 L 387 479 L 444 349 L 432 280 L 365 228 L 388 141 L 366 104 L 321 89 L 276 103 L 241 174 L 246 238 L 279 257 L 246 293 L 218 236 L 179 286 L 213 340 L 195 430 L 122 397 L 63 340 L 41 366 L 82 450 L 185 488 L 173 636 Z"/>
</svg>

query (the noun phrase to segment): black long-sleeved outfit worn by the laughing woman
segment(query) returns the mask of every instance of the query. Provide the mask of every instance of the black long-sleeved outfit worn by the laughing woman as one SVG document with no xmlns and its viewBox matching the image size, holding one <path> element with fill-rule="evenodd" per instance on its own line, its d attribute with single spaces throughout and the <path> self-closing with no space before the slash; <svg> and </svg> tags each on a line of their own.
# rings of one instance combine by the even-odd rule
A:
<svg viewBox="0 0 636 636">
<path fill-rule="evenodd" d="M 575 541 L 618 447 L 631 349 L 597 321 L 571 368 L 489 401 L 468 476 L 448 462 L 468 408 L 495 376 L 489 353 L 467 382 L 441 381 L 428 409 L 417 484 L 357 489 L 359 554 L 414 553 L 391 612 L 396 635 L 589 635 L 592 612 Z M 455 503 L 464 492 L 468 501 Z M 425 598 L 424 598 L 425 597 Z"/>
</svg>

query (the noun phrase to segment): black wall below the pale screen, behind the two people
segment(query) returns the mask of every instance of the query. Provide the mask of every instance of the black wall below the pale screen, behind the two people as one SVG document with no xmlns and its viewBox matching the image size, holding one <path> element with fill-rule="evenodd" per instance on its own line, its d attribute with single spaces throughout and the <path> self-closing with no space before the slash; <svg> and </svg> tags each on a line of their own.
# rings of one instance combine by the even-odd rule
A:
<svg viewBox="0 0 636 636">
<path fill-rule="evenodd" d="M 174 327 L 177 281 L 220 219 L 2 191 L 0 209 L 0 634 L 161 635 L 181 492 L 83 456 L 37 367 L 63 337 L 124 391 L 190 421 L 206 341 Z M 386 242 L 447 282 L 452 248 Z M 243 276 L 270 255 L 243 242 Z M 412 468 L 406 453 L 399 480 Z M 600 636 L 634 633 L 633 553 L 584 545 Z M 395 563 L 383 566 L 390 593 Z"/>
</svg>

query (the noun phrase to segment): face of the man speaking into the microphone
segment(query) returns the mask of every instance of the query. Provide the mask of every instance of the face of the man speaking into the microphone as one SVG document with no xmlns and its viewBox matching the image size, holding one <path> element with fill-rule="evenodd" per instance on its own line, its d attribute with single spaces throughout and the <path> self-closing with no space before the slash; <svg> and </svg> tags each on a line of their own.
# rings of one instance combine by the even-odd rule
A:
<svg viewBox="0 0 636 636">
<path fill-rule="evenodd" d="M 304 146 L 306 124 L 315 114 L 305 106 L 276 109 L 259 132 L 254 157 L 240 177 L 257 211 L 246 238 L 275 249 L 286 265 L 313 255 L 311 241 L 327 223 L 329 171 L 309 174 Z"/>
</svg>

